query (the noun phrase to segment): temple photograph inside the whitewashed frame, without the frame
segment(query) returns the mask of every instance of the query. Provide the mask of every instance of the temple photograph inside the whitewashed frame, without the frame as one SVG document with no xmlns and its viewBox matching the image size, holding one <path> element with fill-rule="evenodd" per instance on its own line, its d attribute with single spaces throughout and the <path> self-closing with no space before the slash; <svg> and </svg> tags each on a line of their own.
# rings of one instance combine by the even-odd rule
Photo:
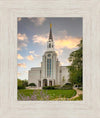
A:
<svg viewBox="0 0 100 118">
<path fill-rule="evenodd" d="M 83 100 L 82 21 L 18 17 L 18 100 Z"/>
</svg>

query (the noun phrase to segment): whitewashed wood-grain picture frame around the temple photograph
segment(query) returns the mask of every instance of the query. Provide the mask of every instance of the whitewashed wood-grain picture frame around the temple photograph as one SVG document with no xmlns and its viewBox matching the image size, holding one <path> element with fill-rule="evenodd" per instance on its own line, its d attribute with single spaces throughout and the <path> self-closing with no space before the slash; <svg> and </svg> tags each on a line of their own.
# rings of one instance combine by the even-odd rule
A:
<svg viewBox="0 0 100 118">
<path fill-rule="evenodd" d="M 17 101 L 17 17 L 83 17 L 83 101 Z M 100 1 L 0 1 L 0 118 L 100 118 Z"/>
</svg>

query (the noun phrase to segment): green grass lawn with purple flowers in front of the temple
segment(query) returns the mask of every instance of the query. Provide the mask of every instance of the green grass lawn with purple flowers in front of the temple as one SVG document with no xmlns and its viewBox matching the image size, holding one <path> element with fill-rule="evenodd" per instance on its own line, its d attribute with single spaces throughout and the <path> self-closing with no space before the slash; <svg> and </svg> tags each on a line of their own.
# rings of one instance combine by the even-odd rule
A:
<svg viewBox="0 0 100 118">
<path fill-rule="evenodd" d="M 57 98 L 67 100 L 75 95 L 75 90 L 18 90 L 18 100 L 55 100 Z"/>
</svg>

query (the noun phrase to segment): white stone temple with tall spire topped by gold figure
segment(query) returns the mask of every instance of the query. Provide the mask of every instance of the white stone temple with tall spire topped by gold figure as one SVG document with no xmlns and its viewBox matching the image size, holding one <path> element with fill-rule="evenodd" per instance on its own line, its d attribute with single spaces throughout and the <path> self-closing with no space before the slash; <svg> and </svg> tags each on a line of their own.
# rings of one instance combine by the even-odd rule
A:
<svg viewBox="0 0 100 118">
<path fill-rule="evenodd" d="M 28 72 L 28 83 L 35 83 L 37 87 L 63 85 L 68 83 L 67 66 L 61 66 L 54 49 L 52 24 L 47 41 L 47 50 L 42 56 L 41 67 L 33 67 Z"/>
</svg>

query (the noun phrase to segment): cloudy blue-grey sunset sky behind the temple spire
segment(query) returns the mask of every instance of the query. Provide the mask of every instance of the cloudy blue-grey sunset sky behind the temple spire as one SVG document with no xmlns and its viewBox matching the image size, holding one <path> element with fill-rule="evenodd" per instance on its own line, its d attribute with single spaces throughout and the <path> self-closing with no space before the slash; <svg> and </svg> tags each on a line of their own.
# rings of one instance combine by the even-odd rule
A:
<svg viewBox="0 0 100 118">
<path fill-rule="evenodd" d="M 83 37 L 82 18 L 17 18 L 17 77 L 28 79 L 32 67 L 40 67 L 42 56 L 47 50 L 50 23 L 55 51 L 62 66 L 70 65 L 68 57 Z"/>
</svg>

